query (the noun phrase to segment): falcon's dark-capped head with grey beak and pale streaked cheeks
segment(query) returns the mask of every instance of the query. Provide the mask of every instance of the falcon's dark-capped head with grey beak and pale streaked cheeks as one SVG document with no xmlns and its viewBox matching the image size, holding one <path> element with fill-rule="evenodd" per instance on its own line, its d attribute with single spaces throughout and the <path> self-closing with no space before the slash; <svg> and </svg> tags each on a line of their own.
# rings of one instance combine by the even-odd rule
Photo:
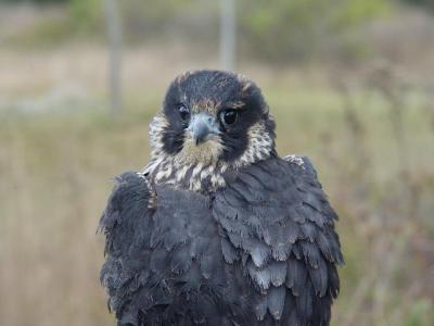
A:
<svg viewBox="0 0 434 326">
<path fill-rule="evenodd" d="M 188 72 L 170 84 L 151 123 L 153 160 L 179 166 L 241 167 L 275 151 L 275 123 L 260 89 L 220 71 Z"/>
</svg>

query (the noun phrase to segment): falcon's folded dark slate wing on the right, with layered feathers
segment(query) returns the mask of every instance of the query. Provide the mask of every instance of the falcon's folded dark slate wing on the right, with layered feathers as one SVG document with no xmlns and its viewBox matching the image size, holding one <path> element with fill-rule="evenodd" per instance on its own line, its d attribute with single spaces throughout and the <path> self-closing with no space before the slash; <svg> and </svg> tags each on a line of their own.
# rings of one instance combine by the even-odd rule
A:
<svg viewBox="0 0 434 326">
<path fill-rule="evenodd" d="M 337 215 L 307 158 L 245 167 L 216 193 L 213 212 L 226 234 L 226 261 L 241 258 L 256 289 L 257 321 L 329 325 L 343 256 Z"/>
</svg>

